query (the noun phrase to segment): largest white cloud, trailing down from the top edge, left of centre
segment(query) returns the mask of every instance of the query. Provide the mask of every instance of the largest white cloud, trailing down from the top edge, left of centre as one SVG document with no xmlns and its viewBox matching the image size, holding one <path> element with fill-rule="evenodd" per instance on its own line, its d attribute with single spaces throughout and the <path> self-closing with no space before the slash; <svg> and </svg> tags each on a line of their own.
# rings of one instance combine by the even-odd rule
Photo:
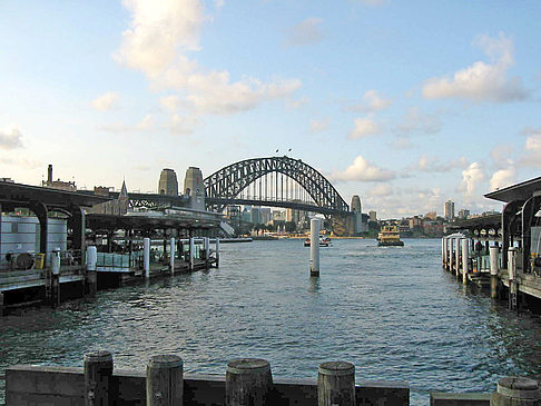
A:
<svg viewBox="0 0 541 406">
<path fill-rule="evenodd" d="M 230 115 L 282 99 L 301 86 L 297 79 L 276 79 L 268 83 L 244 77 L 233 81 L 229 72 L 208 70 L 188 59 L 186 52 L 199 50 L 203 24 L 207 21 L 200 0 L 125 0 L 131 14 L 130 28 L 122 32 L 115 60 L 140 70 L 155 88 L 171 88 L 186 93 L 196 112 Z"/>
</svg>

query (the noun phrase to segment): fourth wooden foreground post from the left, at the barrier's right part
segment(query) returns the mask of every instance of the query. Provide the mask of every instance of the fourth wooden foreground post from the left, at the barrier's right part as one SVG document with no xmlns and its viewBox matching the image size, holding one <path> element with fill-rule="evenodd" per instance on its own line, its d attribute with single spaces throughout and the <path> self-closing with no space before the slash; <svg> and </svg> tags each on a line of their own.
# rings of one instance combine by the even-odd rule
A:
<svg viewBox="0 0 541 406">
<path fill-rule="evenodd" d="M 319 365 L 318 406 L 355 406 L 355 366 L 345 362 Z"/>
</svg>

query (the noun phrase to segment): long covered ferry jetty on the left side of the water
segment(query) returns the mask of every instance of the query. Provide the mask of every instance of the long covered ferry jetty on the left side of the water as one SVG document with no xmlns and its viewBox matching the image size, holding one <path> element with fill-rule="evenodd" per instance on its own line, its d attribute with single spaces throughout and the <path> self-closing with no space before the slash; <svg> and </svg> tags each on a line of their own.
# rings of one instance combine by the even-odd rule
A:
<svg viewBox="0 0 541 406">
<path fill-rule="evenodd" d="M 210 238 L 222 215 L 171 206 L 87 212 L 111 199 L 0 181 L 0 315 L 219 265 L 219 239 Z"/>
</svg>

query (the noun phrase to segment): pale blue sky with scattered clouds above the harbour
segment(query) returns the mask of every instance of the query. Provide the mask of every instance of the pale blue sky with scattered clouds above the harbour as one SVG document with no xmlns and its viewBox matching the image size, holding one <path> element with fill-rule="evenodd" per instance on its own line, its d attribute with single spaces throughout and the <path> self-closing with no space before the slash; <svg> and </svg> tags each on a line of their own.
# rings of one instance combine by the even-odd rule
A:
<svg viewBox="0 0 541 406">
<path fill-rule="evenodd" d="M 287 154 L 378 218 L 501 210 L 483 194 L 541 167 L 539 21 L 538 0 L 1 0 L 0 177 L 155 192 L 163 168 Z"/>
</svg>

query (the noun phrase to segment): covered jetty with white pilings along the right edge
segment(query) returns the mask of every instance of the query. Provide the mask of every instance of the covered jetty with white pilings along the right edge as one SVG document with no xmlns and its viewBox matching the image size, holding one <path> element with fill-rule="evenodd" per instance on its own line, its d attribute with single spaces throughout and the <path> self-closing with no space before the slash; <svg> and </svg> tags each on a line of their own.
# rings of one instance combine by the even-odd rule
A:
<svg viewBox="0 0 541 406">
<path fill-rule="evenodd" d="M 539 307 L 541 299 L 541 177 L 484 195 L 501 215 L 456 221 L 442 239 L 442 265 L 463 284 L 490 289 L 509 308 Z"/>
</svg>

